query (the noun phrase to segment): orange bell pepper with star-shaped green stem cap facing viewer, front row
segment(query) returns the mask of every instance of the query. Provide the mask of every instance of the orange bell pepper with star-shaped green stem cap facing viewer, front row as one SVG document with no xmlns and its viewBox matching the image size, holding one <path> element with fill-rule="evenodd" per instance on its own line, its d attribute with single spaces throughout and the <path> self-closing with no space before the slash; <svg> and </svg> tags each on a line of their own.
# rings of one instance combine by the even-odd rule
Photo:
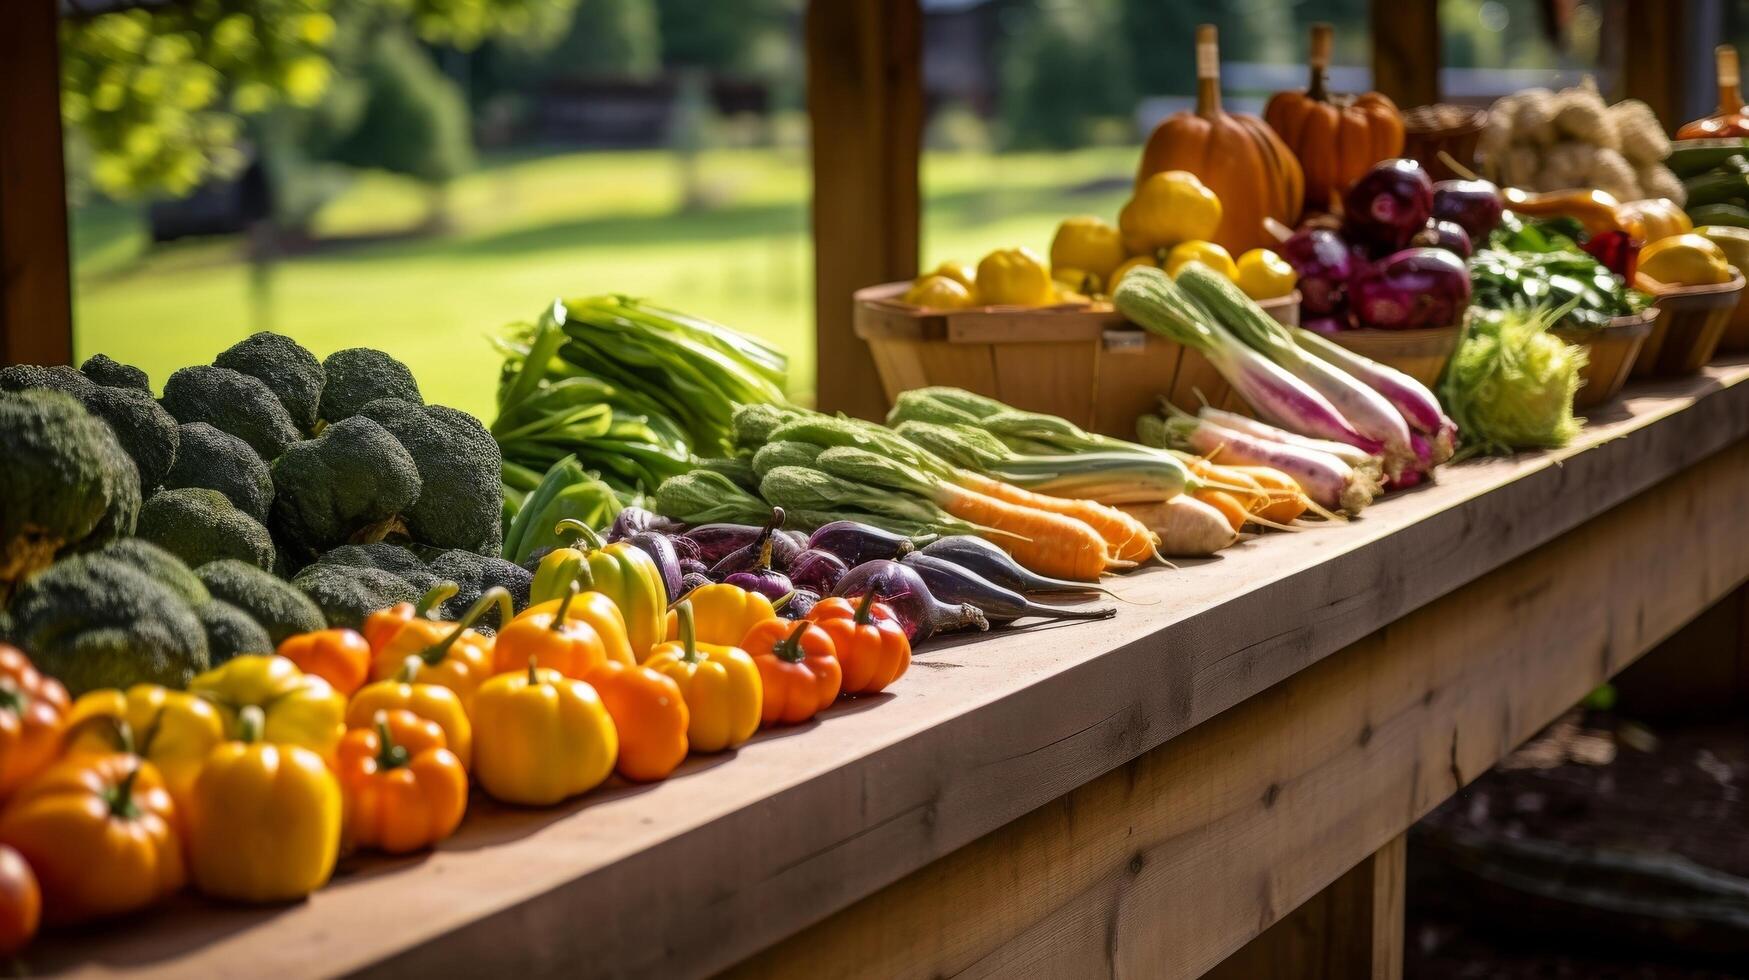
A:
<svg viewBox="0 0 1749 980">
<path fill-rule="evenodd" d="M 346 840 L 406 854 L 455 833 L 467 812 L 467 770 L 442 726 L 406 709 L 371 721 L 339 742 Z"/>
</svg>

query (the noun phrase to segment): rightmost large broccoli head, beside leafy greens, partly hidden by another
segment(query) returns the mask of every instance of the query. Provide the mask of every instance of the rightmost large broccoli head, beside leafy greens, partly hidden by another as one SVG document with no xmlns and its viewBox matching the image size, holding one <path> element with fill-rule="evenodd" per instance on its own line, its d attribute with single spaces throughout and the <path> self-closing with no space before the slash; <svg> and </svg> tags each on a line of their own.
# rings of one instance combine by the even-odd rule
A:
<svg viewBox="0 0 1749 980">
<path fill-rule="evenodd" d="M 359 415 L 388 429 L 420 467 L 420 499 L 402 516 L 413 541 L 497 555 L 504 546 L 504 455 L 472 415 L 376 399 Z"/>
</svg>

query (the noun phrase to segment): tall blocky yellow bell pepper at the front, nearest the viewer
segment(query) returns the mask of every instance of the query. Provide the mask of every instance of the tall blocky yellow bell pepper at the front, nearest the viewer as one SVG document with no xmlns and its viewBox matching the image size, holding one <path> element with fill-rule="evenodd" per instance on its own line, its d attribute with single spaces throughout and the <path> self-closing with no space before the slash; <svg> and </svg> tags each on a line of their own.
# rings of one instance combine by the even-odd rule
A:
<svg viewBox="0 0 1749 980">
<path fill-rule="evenodd" d="M 339 780 L 310 749 L 264 740 L 261 705 L 245 705 L 236 719 L 236 740 L 213 749 L 194 780 L 194 887 L 234 901 L 303 898 L 334 873 Z"/>
</svg>

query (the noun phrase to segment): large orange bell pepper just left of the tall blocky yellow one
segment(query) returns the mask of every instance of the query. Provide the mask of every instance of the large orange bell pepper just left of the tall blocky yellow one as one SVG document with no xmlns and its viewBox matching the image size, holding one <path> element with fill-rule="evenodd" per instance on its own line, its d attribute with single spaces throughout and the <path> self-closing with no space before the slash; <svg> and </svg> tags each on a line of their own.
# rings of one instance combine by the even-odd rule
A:
<svg viewBox="0 0 1749 980">
<path fill-rule="evenodd" d="M 126 752 L 68 756 L 26 782 L 0 812 L 0 844 L 37 873 L 52 924 L 145 908 L 187 878 L 157 766 Z"/>
</svg>

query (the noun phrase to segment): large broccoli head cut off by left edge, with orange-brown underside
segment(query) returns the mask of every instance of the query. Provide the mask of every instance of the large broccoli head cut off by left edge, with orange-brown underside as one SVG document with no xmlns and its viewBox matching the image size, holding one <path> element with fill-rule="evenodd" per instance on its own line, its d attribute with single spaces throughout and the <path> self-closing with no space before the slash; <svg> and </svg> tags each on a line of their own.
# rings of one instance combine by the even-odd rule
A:
<svg viewBox="0 0 1749 980">
<path fill-rule="evenodd" d="M 140 476 L 70 396 L 0 394 L 0 597 L 56 555 L 131 534 Z"/>
</svg>

